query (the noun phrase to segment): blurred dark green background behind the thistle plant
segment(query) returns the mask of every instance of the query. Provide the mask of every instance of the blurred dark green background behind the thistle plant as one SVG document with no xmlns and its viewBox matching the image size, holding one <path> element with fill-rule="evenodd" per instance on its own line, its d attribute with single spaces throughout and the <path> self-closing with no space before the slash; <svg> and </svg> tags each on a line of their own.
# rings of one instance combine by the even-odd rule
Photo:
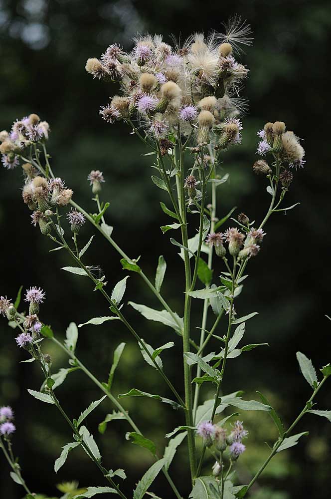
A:
<svg viewBox="0 0 331 499">
<path fill-rule="evenodd" d="M 168 219 L 159 207 L 162 192 L 150 180 L 151 161 L 140 156 L 146 151 L 128 134 L 128 128 L 108 125 L 98 116 L 99 106 L 107 103 L 116 87 L 93 80 L 84 65 L 88 57 L 98 57 L 112 42 L 119 41 L 129 48 L 137 30 L 164 33 L 165 39 L 170 33 L 181 33 L 184 38 L 194 31 L 219 29 L 221 22 L 235 12 L 247 18 L 254 30 L 254 46 L 244 57 L 250 78 L 243 95 L 250 101 L 250 111 L 243 120 L 242 146 L 224 156 L 224 172 L 230 173 L 230 180 L 219 188 L 218 216 L 234 205 L 251 220 L 260 220 L 265 213 L 269 195 L 264 180 L 253 175 L 251 165 L 256 159 L 256 130 L 266 121 L 284 120 L 289 129 L 305 139 L 307 164 L 295 176 L 286 200 L 286 206 L 298 201 L 301 205 L 286 216 L 274 215 L 268 222 L 263 249 L 250 263 L 251 276 L 238 299 L 240 315 L 259 311 L 247 325 L 247 342 L 269 342 L 270 347 L 256 349 L 229 363 L 224 390 L 228 393 L 244 389 L 248 397 L 255 397 L 254 391 L 261 390 L 290 423 L 310 396 L 310 388 L 299 374 L 295 352 L 305 352 L 317 367 L 331 361 L 330 322 L 325 317 L 331 313 L 330 4 L 300 0 L 2 0 L 0 129 L 30 112 L 49 121 L 53 169 L 88 211 L 92 212 L 94 206 L 87 174 L 91 169 L 104 172 L 107 183 L 102 197 L 111 203 L 107 221 L 115 227 L 115 240 L 132 257 L 142 254 L 142 266 L 152 278 L 158 255 L 165 255 L 168 268 L 163 293 L 181 313 L 182 294 L 178 290 L 183 286 L 183 270 L 168 235 L 163 236 L 159 229 Z M 61 336 L 70 321 L 84 322 L 107 315 L 109 310 L 86 280 L 60 270 L 71 264 L 64 253 L 48 253 L 49 241 L 29 223 L 29 212 L 20 198 L 21 180 L 19 169 L 1 169 L 0 293 L 14 297 L 20 284 L 41 286 L 47 292 L 41 319 L 52 324 Z M 86 225 L 82 242 L 91 234 L 92 228 Z M 88 263 L 101 265 L 110 289 L 124 275 L 118 254 L 99 236 L 87 258 Z M 214 275 L 219 275 L 220 270 L 217 262 Z M 158 307 L 136 275 L 128 281 L 126 298 Z M 193 303 L 196 325 L 200 305 Z M 178 339 L 170 329 L 142 319 L 131 307 L 124 310 L 153 346 L 169 340 L 176 342 L 176 352 L 165 352 L 164 362 L 172 381 L 181 387 Z M 58 476 L 53 472 L 60 447 L 72 440 L 71 432 L 51 406 L 27 394 L 27 388 L 38 389 L 40 373 L 34 365 L 18 363 L 25 358 L 24 352 L 15 347 L 12 331 L 4 320 L 0 328 L 0 403 L 10 404 L 15 410 L 14 448 L 30 489 L 60 495 L 54 484 L 72 479 L 79 480 L 81 486 L 104 485 L 82 451 L 73 451 Z M 117 372 L 115 392 L 124 393 L 134 386 L 169 396 L 156 372 L 142 360 L 127 330 L 117 322 L 82 328 L 77 354 L 101 379 L 106 379 L 113 350 L 120 341 L 127 342 L 127 347 Z M 61 352 L 47 348 L 46 342 L 44 349 L 51 353 L 55 369 L 66 365 Z M 57 393 L 72 417 L 100 398 L 95 386 L 79 372 L 71 374 Z M 208 396 L 206 391 L 203 393 Z M 331 409 L 330 393 L 329 384 L 318 397 L 320 409 Z M 128 400 L 127 407 L 162 452 L 163 435 L 177 426 L 178 413 L 153 400 Z M 97 424 L 112 409 L 105 401 L 89 417 L 88 427 L 96 434 L 105 466 L 125 468 L 129 478 L 123 489 L 130 497 L 134 484 L 151 462 L 147 453 L 125 441 L 124 434 L 129 430 L 125 423 L 112 423 L 103 437 L 97 434 Z M 263 442 L 272 441 L 275 434 L 265 413 L 245 413 L 242 419 L 250 429 L 246 457 L 239 467 L 240 479 L 245 483 L 267 452 Z M 259 481 L 254 499 L 329 497 L 331 425 L 326 419 L 307 416 L 297 429 L 309 430 L 310 437 L 275 459 Z M 179 485 L 188 484 L 185 460 L 182 446 L 171 467 Z M 2 458 L 0 478 L 2 495 L 21 497 Z M 164 493 L 164 485 L 161 478 L 159 486 L 152 490 L 164 498 L 171 497 Z"/>
</svg>

